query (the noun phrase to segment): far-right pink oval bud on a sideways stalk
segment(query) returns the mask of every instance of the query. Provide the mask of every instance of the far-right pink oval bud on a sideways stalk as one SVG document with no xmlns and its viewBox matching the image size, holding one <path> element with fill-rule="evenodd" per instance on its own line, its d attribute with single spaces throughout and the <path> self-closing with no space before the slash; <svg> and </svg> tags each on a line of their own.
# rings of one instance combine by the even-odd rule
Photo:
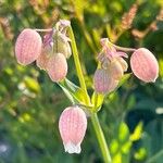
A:
<svg viewBox="0 0 163 163">
<path fill-rule="evenodd" d="M 155 57 L 146 48 L 137 49 L 130 58 L 134 74 L 146 83 L 155 82 L 159 76 L 159 64 Z"/>
</svg>

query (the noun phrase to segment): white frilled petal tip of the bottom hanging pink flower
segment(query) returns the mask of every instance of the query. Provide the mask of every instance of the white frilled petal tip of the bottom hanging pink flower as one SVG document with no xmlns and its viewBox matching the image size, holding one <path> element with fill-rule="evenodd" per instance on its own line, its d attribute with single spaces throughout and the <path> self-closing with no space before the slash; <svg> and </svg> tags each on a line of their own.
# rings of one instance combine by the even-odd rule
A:
<svg viewBox="0 0 163 163">
<path fill-rule="evenodd" d="M 80 145 L 74 145 L 72 142 L 68 142 L 66 145 L 64 145 L 64 150 L 65 152 L 68 152 L 70 154 L 73 154 L 73 153 L 77 153 L 79 154 L 82 149 L 80 149 Z"/>
</svg>

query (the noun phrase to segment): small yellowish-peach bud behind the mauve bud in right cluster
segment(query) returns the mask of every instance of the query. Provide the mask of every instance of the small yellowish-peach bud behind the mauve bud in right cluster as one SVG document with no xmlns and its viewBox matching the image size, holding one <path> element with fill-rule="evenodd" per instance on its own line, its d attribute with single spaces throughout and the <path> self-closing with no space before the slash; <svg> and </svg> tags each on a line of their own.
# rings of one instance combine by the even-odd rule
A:
<svg viewBox="0 0 163 163">
<path fill-rule="evenodd" d="M 124 75 L 124 70 L 116 58 L 111 61 L 109 71 L 115 80 L 120 80 Z"/>
</svg>

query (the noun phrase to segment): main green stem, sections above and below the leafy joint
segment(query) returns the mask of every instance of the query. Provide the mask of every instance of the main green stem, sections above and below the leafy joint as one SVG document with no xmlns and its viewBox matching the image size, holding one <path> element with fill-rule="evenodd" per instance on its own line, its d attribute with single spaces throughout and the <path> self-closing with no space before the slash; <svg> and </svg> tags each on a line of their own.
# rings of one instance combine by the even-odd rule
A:
<svg viewBox="0 0 163 163">
<path fill-rule="evenodd" d="M 75 37 L 74 37 L 74 33 L 73 33 L 72 27 L 70 27 L 68 33 L 70 33 L 70 38 L 72 40 L 71 43 L 72 43 L 72 50 L 73 50 L 73 57 L 74 57 L 74 62 L 75 62 L 75 66 L 76 66 L 77 76 L 78 76 L 78 79 L 79 79 L 80 87 L 86 93 L 86 105 L 91 105 L 90 98 L 89 98 L 88 92 L 87 92 L 87 87 L 86 87 L 84 74 L 83 74 L 83 71 L 82 71 L 82 65 L 80 65 L 80 62 L 79 62 L 77 46 L 76 46 L 76 41 L 75 41 Z M 99 145 L 100 145 L 100 149 L 101 149 L 101 152 L 102 152 L 103 160 L 104 160 L 105 163 L 111 163 L 111 156 L 110 156 L 109 148 L 108 148 L 108 145 L 106 145 L 106 141 L 105 141 L 105 138 L 104 138 L 104 135 L 103 135 L 102 128 L 100 126 L 97 114 L 92 113 L 90 118 L 91 118 L 92 126 L 93 126 L 93 129 L 96 131 Z"/>
</svg>

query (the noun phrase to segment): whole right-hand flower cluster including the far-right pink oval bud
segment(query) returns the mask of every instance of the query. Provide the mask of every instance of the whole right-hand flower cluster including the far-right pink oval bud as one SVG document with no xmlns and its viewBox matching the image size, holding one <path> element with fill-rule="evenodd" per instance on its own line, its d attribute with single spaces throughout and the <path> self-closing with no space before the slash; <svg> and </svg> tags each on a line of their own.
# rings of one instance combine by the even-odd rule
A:
<svg viewBox="0 0 163 163">
<path fill-rule="evenodd" d="M 114 45 L 108 38 L 101 39 L 102 50 L 98 55 L 100 68 L 95 73 L 93 84 L 98 93 L 113 91 L 128 68 L 124 58 L 128 55 L 116 51 Z M 159 75 L 159 64 L 155 57 L 146 48 L 139 48 L 130 57 L 133 73 L 142 82 L 155 82 Z"/>
</svg>

